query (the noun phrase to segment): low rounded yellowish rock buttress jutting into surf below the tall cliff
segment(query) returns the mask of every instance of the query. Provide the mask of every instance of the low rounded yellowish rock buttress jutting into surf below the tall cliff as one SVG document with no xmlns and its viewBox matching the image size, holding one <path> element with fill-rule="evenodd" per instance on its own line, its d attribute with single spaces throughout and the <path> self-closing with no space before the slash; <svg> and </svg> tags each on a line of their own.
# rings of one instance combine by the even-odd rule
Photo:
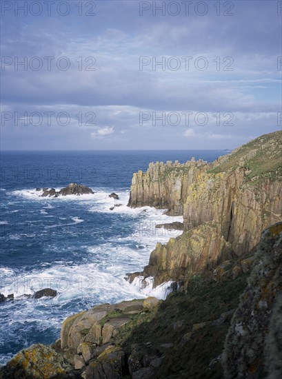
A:
<svg viewBox="0 0 282 379">
<path fill-rule="evenodd" d="M 177 238 L 170 238 L 165 245 L 157 243 L 150 254 L 149 265 L 138 274 L 153 276 L 155 286 L 167 280 L 183 280 L 227 259 L 230 252 L 230 244 L 221 236 L 220 224 L 210 221 Z M 130 282 L 135 277 L 135 274 L 130 275 Z"/>
</svg>

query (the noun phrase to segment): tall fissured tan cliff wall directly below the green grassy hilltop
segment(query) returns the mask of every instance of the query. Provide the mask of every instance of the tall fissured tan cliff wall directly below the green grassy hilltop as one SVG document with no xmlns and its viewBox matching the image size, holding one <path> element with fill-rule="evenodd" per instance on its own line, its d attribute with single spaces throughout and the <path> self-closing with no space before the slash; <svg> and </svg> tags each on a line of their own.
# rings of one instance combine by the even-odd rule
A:
<svg viewBox="0 0 282 379">
<path fill-rule="evenodd" d="M 202 174 L 188 189 L 183 205 L 184 229 L 214 220 L 221 235 L 236 254 L 248 252 L 259 242 L 261 232 L 281 219 L 282 185 L 277 179 L 249 181 L 247 169 Z"/>
</svg>

